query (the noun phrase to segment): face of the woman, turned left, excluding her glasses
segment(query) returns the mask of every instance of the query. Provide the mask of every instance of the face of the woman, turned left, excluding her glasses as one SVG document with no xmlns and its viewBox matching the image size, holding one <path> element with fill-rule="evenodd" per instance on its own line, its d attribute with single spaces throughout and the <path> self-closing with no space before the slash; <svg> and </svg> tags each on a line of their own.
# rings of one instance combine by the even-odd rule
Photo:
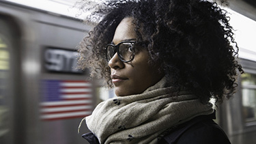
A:
<svg viewBox="0 0 256 144">
<path fill-rule="evenodd" d="M 133 18 L 124 18 L 115 29 L 113 44 L 119 44 L 125 40 L 137 40 L 134 31 Z M 117 53 L 109 61 L 111 78 L 115 85 L 117 96 L 139 94 L 148 87 L 156 84 L 164 76 L 158 72 L 158 68 L 150 66 L 150 56 L 145 48 L 139 48 L 135 57 L 128 63 L 122 62 Z"/>
</svg>

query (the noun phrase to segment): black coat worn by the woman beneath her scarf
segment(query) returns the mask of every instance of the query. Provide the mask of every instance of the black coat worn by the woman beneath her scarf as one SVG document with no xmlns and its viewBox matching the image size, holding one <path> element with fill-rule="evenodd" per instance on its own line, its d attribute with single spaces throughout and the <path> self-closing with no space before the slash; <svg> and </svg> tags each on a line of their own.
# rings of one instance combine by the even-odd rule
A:
<svg viewBox="0 0 256 144">
<path fill-rule="evenodd" d="M 160 139 L 159 144 L 230 144 L 225 132 L 212 119 L 212 115 L 198 116 L 177 126 Z M 91 132 L 83 134 L 91 144 L 99 144 Z"/>
</svg>

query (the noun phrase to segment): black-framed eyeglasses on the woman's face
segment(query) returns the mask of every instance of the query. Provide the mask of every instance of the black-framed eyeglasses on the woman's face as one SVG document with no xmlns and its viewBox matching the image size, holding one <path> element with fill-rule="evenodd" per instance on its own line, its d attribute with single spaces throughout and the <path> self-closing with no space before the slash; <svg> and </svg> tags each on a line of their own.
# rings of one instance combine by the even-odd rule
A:
<svg viewBox="0 0 256 144">
<path fill-rule="evenodd" d="M 120 42 L 119 44 L 107 44 L 105 51 L 106 51 L 106 60 L 110 61 L 115 53 L 117 53 L 118 58 L 127 63 L 129 61 L 132 61 L 135 56 L 135 48 L 134 44 L 136 42 L 132 41 L 124 41 Z"/>
</svg>

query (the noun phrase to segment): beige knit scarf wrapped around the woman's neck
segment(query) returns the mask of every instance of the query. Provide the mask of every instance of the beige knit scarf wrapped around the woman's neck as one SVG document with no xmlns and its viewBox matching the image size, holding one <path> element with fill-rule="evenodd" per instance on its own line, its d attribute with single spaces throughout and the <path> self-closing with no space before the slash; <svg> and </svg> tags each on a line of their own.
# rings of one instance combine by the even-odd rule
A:
<svg viewBox="0 0 256 144">
<path fill-rule="evenodd" d="M 141 94 L 101 102 L 85 117 L 100 143 L 158 143 L 163 132 L 198 115 L 213 113 L 212 104 L 201 104 L 189 91 L 173 96 L 162 78 Z"/>
</svg>

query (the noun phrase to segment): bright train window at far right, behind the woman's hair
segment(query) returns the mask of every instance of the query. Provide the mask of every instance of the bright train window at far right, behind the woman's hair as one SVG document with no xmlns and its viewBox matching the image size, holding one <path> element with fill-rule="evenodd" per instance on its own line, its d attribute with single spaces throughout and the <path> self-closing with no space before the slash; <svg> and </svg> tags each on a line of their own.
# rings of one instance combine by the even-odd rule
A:
<svg viewBox="0 0 256 144">
<path fill-rule="evenodd" d="M 256 121 L 256 74 L 242 74 L 242 106 L 245 122 Z"/>
</svg>

